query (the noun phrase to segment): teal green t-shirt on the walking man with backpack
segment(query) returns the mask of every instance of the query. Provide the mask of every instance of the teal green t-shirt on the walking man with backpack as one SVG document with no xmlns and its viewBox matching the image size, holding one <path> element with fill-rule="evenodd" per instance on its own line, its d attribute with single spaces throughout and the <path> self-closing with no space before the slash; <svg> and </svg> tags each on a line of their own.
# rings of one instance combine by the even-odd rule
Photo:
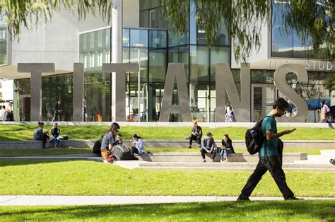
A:
<svg viewBox="0 0 335 222">
<path fill-rule="evenodd" d="M 276 119 L 274 119 L 274 117 L 270 113 L 266 115 L 266 118 L 263 120 L 263 122 L 261 122 L 261 132 L 263 133 L 263 136 L 266 136 L 266 131 L 271 131 L 273 134 L 277 133 Z M 267 141 L 266 144 L 267 156 L 278 155 L 277 142 L 278 138 Z M 265 140 L 263 144 L 261 144 L 261 150 L 259 151 L 259 156 L 264 156 L 264 143 Z"/>
</svg>

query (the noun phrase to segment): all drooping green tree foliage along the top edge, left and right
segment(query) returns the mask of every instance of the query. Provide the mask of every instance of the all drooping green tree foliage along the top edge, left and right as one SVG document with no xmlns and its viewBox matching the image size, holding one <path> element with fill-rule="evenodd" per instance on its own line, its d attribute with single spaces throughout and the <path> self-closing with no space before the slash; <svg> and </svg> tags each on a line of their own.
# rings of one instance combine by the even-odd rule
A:
<svg viewBox="0 0 335 222">
<path fill-rule="evenodd" d="M 186 27 L 190 3 L 196 5 L 197 23 L 206 28 L 208 47 L 216 45 L 221 18 L 228 27 L 228 34 L 233 43 L 236 61 L 247 62 L 252 49 L 261 46 L 261 25 L 269 21 L 271 0 L 161 0 L 163 15 L 177 33 L 183 33 Z M 283 21 L 289 29 L 294 28 L 306 40 L 312 38 L 315 54 L 334 61 L 335 48 L 335 0 L 277 0 L 290 4 L 290 10 L 283 13 Z M 0 10 L 7 16 L 8 30 L 14 37 L 20 35 L 22 25 L 28 28 L 33 17 L 35 23 L 40 18 L 49 21 L 52 12 L 59 6 L 78 11 L 80 19 L 87 13 L 95 13 L 109 22 L 112 11 L 112 0 L 1 0 Z"/>
</svg>

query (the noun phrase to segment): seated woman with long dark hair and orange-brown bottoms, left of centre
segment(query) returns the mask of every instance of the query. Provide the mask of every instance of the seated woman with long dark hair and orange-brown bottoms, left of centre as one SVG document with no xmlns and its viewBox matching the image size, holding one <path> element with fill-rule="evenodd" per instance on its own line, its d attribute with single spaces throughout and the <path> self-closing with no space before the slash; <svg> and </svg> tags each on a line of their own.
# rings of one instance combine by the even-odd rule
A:
<svg viewBox="0 0 335 222">
<path fill-rule="evenodd" d="M 101 141 L 101 157 L 104 163 L 113 163 L 113 158 L 111 156 L 112 148 L 115 144 L 115 136 L 119 132 L 120 126 L 116 122 L 110 125 L 110 128 L 105 133 Z"/>
</svg>

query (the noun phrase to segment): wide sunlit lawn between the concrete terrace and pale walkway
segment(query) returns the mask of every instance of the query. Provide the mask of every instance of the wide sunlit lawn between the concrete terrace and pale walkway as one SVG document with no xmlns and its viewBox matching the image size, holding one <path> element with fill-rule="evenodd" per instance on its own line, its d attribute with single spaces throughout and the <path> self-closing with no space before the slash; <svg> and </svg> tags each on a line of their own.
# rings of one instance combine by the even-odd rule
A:
<svg viewBox="0 0 335 222">
<path fill-rule="evenodd" d="M 1 160 L 0 195 L 235 196 L 252 170 L 129 170 L 85 160 Z M 298 197 L 335 197 L 332 171 L 286 170 Z M 254 196 L 281 197 L 266 173 Z"/>
</svg>

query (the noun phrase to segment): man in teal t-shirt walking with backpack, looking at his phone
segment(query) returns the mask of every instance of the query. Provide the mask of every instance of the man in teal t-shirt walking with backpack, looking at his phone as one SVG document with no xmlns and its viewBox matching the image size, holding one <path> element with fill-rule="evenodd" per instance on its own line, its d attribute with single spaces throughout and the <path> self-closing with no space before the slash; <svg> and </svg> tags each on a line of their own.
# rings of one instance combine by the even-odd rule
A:
<svg viewBox="0 0 335 222">
<path fill-rule="evenodd" d="M 293 130 L 284 130 L 277 132 L 277 125 L 275 117 L 281 117 L 288 110 L 288 102 L 283 98 L 278 98 L 274 101 L 271 112 L 264 117 L 260 122 L 257 122 L 252 130 L 247 130 L 246 144 L 249 153 L 259 153 L 259 162 L 254 173 L 250 175 L 247 184 L 243 187 L 237 201 L 249 200 L 249 196 L 257 186 L 261 177 L 269 170 L 271 176 L 274 178 L 278 188 L 281 190 L 284 199 L 298 199 L 294 197 L 293 192 L 286 184 L 285 173 L 282 169 L 281 151 L 278 151 L 279 137 L 290 134 Z M 260 127 L 259 127 L 260 126 Z M 261 138 L 259 138 L 261 136 Z M 252 139 L 254 137 L 254 139 Z M 257 146 L 254 146 L 257 145 Z M 255 149 L 253 149 L 255 148 Z"/>
</svg>

